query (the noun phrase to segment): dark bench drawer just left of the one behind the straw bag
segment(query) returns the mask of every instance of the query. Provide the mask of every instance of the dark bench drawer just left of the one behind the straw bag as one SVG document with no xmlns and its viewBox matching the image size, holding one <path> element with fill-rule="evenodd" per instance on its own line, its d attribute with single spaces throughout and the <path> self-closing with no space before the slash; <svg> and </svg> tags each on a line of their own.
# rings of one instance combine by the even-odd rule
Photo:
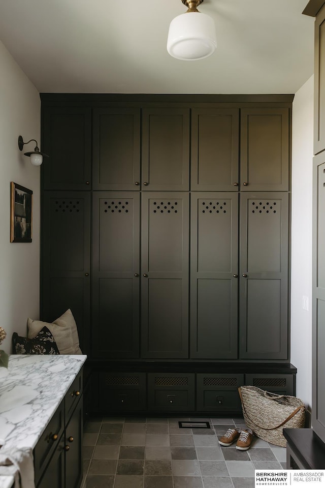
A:
<svg viewBox="0 0 325 488">
<path fill-rule="evenodd" d="M 241 412 L 238 387 L 244 375 L 197 374 L 197 410 Z"/>
</svg>

